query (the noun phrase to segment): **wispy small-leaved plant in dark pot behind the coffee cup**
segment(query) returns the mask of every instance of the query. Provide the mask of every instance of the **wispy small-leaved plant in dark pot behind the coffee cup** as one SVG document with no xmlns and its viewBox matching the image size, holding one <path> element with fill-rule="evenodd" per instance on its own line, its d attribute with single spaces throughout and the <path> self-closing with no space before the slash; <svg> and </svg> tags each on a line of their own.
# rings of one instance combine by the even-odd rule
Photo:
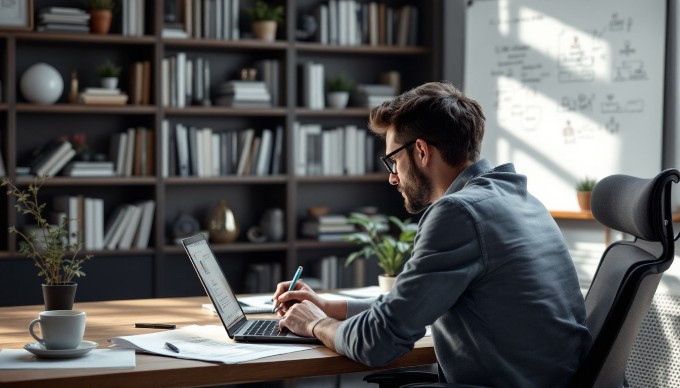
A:
<svg viewBox="0 0 680 388">
<path fill-rule="evenodd" d="M 70 310 L 73 308 L 77 283 L 76 277 L 85 276 L 82 265 L 92 255 L 79 256 L 82 243 L 69 238 L 69 223 L 77 222 L 64 218 L 58 224 L 51 224 L 43 215 L 45 203 L 41 203 L 38 192 L 44 183 L 35 180 L 27 190 L 17 188 L 9 179 L 3 178 L 0 186 L 7 188 L 7 195 L 16 199 L 15 207 L 19 214 L 29 215 L 37 223 L 33 231 L 22 232 L 10 226 L 10 233 L 21 237 L 19 253 L 32 259 L 42 277 L 45 310 Z"/>
</svg>

